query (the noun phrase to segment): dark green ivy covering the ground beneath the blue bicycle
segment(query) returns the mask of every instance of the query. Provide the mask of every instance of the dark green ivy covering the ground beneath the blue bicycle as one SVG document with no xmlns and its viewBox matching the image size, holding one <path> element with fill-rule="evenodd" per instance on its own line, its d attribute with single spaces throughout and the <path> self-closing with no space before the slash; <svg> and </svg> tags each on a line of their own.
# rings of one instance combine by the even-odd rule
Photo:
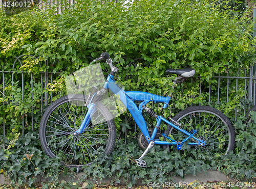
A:
<svg viewBox="0 0 256 189">
<path fill-rule="evenodd" d="M 255 112 L 251 113 L 253 119 L 256 119 Z M 136 183 L 136 180 L 142 179 L 144 184 L 164 183 L 166 180 L 172 180 L 172 176 L 181 176 L 200 173 L 207 173 L 207 169 L 218 170 L 230 177 L 236 179 L 248 179 L 256 177 L 255 173 L 255 124 L 249 124 L 245 131 L 245 124 L 242 124 L 244 117 L 240 117 L 236 123 L 236 146 L 234 152 L 219 157 L 209 158 L 203 153 L 194 153 L 193 148 L 170 147 L 170 152 L 163 150 L 159 145 L 145 156 L 147 168 L 136 166 L 135 159 L 143 151 L 138 146 L 134 138 L 130 138 L 128 144 L 124 145 L 123 139 L 116 142 L 116 147 L 110 155 L 101 154 L 95 159 L 95 163 L 88 167 L 83 167 L 84 175 L 82 180 L 93 178 L 101 180 L 107 177 L 114 177 L 112 182 L 120 183 L 123 178 L 128 186 Z M 3 145 L 8 146 L 13 143 L 5 140 Z M 19 137 L 15 141 L 13 148 L 10 148 L 10 154 L 1 150 L 0 169 L 9 175 L 13 181 L 19 184 L 28 182 L 31 185 L 35 181 L 36 175 L 45 175 L 49 178 L 48 183 L 52 187 L 62 187 L 67 182 L 60 182 L 59 176 L 69 174 L 71 177 L 75 170 L 70 170 L 59 166 L 61 159 L 49 159 L 48 156 L 40 150 L 38 133 L 29 132 L 25 136 Z M 70 183 L 72 184 L 72 182 Z M 77 183 L 78 187 L 79 183 Z M 92 183 L 88 182 L 88 187 Z M 46 188 L 47 186 L 43 186 Z M 73 186 L 72 186 L 73 187 Z"/>
</svg>

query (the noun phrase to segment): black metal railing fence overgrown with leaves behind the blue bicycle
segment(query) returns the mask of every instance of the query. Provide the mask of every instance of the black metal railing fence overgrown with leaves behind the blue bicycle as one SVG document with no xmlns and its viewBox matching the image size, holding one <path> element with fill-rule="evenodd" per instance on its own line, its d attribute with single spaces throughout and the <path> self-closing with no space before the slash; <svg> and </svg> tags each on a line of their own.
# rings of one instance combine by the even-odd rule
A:
<svg viewBox="0 0 256 189">
<path fill-rule="evenodd" d="M 8 76 L 9 78 L 11 77 L 11 81 L 12 81 L 12 86 L 14 85 L 14 83 L 16 82 L 15 81 L 15 77 L 14 75 L 15 74 L 20 74 L 21 75 L 21 80 L 22 80 L 22 100 L 26 101 L 26 99 L 24 99 L 24 96 L 25 96 L 25 90 L 24 90 L 24 86 L 25 86 L 25 82 L 28 82 L 26 80 L 24 80 L 24 75 L 25 74 L 30 74 L 30 77 L 31 77 L 31 80 L 33 80 L 33 76 L 34 74 L 33 73 L 28 73 L 26 71 L 18 71 L 18 69 L 16 68 L 17 65 L 19 65 L 20 67 L 23 66 L 22 64 L 22 60 L 20 60 L 22 57 L 24 57 L 25 55 L 22 55 L 22 56 L 19 56 L 19 57 L 15 57 L 15 61 L 13 62 L 13 65 L 12 65 L 12 69 L 11 70 L 4 70 L 4 67 L 2 67 L 2 70 L 0 71 L 2 74 L 1 74 L 1 81 L 2 81 L 2 89 L 0 90 L 0 93 L 5 96 L 5 88 L 7 87 L 6 86 L 6 77 Z M 32 56 L 31 56 L 32 57 Z M 33 58 L 33 57 L 32 57 Z M 37 59 L 37 58 L 33 58 L 33 59 Z M 138 58 L 138 59 L 141 59 L 141 58 Z M 131 66 L 131 64 L 134 64 L 135 66 L 135 63 L 134 61 L 138 60 L 138 59 L 134 59 L 128 66 Z M 51 63 L 51 65 L 54 65 L 55 62 Z M 39 62 L 39 67 L 41 67 L 41 63 Z M 48 65 L 48 61 L 44 62 L 43 64 L 46 64 Z M 37 78 L 40 78 L 40 83 L 41 83 L 41 90 L 44 90 L 44 89 L 47 89 L 47 85 L 48 83 L 53 83 L 53 78 L 55 75 L 58 75 L 60 72 L 56 72 L 53 74 L 53 72 L 49 72 L 49 71 L 40 71 L 37 75 Z M 215 89 L 212 90 L 212 85 L 209 85 L 208 86 L 208 102 L 211 102 L 211 103 L 219 103 L 220 100 L 223 100 L 225 99 L 226 102 L 229 101 L 229 98 L 230 98 L 230 88 L 232 88 L 231 91 L 233 92 L 237 92 L 239 88 L 241 88 L 241 86 L 243 87 L 243 89 L 246 91 L 246 94 L 242 97 L 243 99 L 246 99 L 246 100 L 249 100 L 251 101 L 253 104 L 255 104 L 255 82 L 256 82 L 256 77 L 254 76 L 253 77 L 253 74 L 252 74 L 252 68 L 251 69 L 245 69 L 245 68 L 240 68 L 238 69 L 237 73 L 224 73 L 225 75 L 221 75 L 219 74 L 219 76 L 213 76 L 212 78 L 215 78 L 217 80 L 217 83 L 215 84 Z M 255 72 L 256 74 L 256 72 Z M 255 75 L 254 74 L 254 75 Z M 128 76 L 127 76 L 128 77 Z M 26 76 L 26 78 L 28 78 L 28 75 Z M 20 77 L 19 77 L 20 79 Z M 191 78 L 191 82 L 193 83 L 193 80 L 196 79 L 196 78 Z M 234 87 L 234 85 L 230 85 L 230 82 L 236 82 L 236 86 Z M 243 85 L 240 85 L 241 83 L 243 83 Z M 33 100 L 33 96 L 34 96 L 34 93 L 33 93 L 33 89 L 35 88 L 33 82 L 30 82 L 30 85 L 31 85 L 31 99 Z M 221 86 L 225 86 L 225 89 L 226 91 L 223 92 L 223 88 Z M 205 88 L 204 88 L 204 91 L 205 91 Z M 201 94 L 202 92 L 202 86 L 200 84 L 200 90 L 199 90 L 199 93 Z M 222 94 L 221 94 L 222 92 Z M 223 95 L 225 93 L 225 95 Z M 43 108 L 48 105 L 49 103 L 52 102 L 52 92 L 44 92 L 41 94 L 41 98 L 40 98 L 40 112 L 42 112 Z M 214 98 L 212 98 L 214 96 Z M 217 97 L 217 98 L 216 98 Z M 50 102 L 48 102 L 48 99 L 50 100 Z M 217 100 L 216 100 L 217 99 Z M 214 101 L 213 101 L 214 100 Z M 13 100 L 12 100 L 13 102 Z M 5 104 L 5 102 L 3 102 Z M 31 112 L 33 113 L 34 111 L 34 107 L 32 106 L 31 107 Z M 245 110 L 244 110 L 244 115 L 245 115 Z M 241 114 L 241 112 L 240 112 Z M 3 115 L 0 115 L 0 117 L 3 116 Z M 236 114 L 235 114 L 235 119 L 237 120 L 237 111 L 236 111 Z M 33 114 L 32 114 L 32 117 L 31 117 L 31 126 L 32 126 L 32 130 L 34 130 L 34 122 L 33 122 Z M 127 118 L 125 118 L 126 122 L 127 122 Z M 24 134 L 24 126 L 25 126 L 25 123 L 24 123 L 24 116 L 22 118 L 22 133 Z M 4 136 L 6 135 L 6 127 L 11 127 L 11 125 L 6 125 L 5 123 L 3 123 L 3 129 L 4 129 Z M 136 132 L 136 124 L 135 124 L 135 132 Z"/>
</svg>

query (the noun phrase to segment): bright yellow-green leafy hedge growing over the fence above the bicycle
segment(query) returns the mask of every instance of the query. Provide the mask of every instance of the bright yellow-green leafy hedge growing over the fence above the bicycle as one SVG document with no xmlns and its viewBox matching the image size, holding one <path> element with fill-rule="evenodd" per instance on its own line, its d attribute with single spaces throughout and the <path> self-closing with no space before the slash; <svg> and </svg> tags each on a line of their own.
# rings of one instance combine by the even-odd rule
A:
<svg viewBox="0 0 256 189">
<path fill-rule="evenodd" d="M 37 128 L 44 110 L 40 102 L 47 106 L 60 96 L 60 91 L 63 95 L 64 77 L 87 66 L 91 57 L 97 58 L 102 51 L 108 51 L 114 59 L 118 67 L 115 79 L 126 91 L 159 95 L 174 92 L 170 102 L 173 113 L 192 103 L 209 103 L 232 117 L 234 109 L 240 106 L 239 99 L 246 95 L 242 90 L 245 84 L 239 80 L 239 90 L 235 90 L 236 80 L 230 79 L 229 89 L 227 85 L 220 86 L 219 103 L 212 104 L 217 101 L 218 80 L 211 77 L 236 73 L 241 67 L 247 69 L 254 60 L 255 41 L 250 35 L 250 18 L 246 13 L 242 17 L 232 15 L 233 10 L 227 6 L 225 2 L 187 0 L 144 0 L 125 6 L 122 2 L 78 1 L 61 15 L 56 14 L 58 6 L 48 6 L 46 12 L 34 8 L 11 17 L 0 13 L 1 64 L 3 70 L 10 71 L 12 67 L 17 70 L 13 74 L 15 83 L 11 82 L 12 75 L 5 74 L 7 87 L 0 99 L 0 121 L 8 125 L 7 136 L 12 135 L 10 125 L 15 125 L 13 133 L 20 132 L 23 126 L 31 129 L 27 120 L 32 116 Z M 13 65 L 14 56 L 23 54 L 27 56 L 19 58 L 22 65 L 19 61 Z M 31 56 L 41 57 L 35 60 Z M 164 70 L 185 66 L 194 68 L 194 78 L 198 79 L 193 83 L 187 79 L 173 90 L 175 76 L 164 75 Z M 24 84 L 21 71 L 28 72 L 24 73 Z M 41 79 L 42 71 L 52 72 L 53 78 L 44 74 Z M 245 76 L 245 72 L 238 75 Z M 226 84 L 227 80 L 221 82 Z M 229 92 L 228 100 L 225 100 L 226 92 Z M 155 111 L 168 116 L 170 107 L 162 109 L 162 105 L 155 107 Z M 11 119 L 13 116 L 15 119 Z M 115 120 L 117 125 L 120 120 L 124 117 Z M 154 123 L 148 120 L 148 124 Z"/>
</svg>

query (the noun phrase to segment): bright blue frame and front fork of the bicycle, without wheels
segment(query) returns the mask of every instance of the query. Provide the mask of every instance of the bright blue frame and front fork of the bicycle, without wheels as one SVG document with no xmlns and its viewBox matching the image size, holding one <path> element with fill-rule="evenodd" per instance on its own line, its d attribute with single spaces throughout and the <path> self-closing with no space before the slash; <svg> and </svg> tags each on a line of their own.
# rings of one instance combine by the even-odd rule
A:
<svg viewBox="0 0 256 189">
<path fill-rule="evenodd" d="M 201 141 L 201 140 L 197 139 L 196 137 L 194 137 L 195 131 L 194 131 L 194 133 L 188 132 L 188 131 L 184 130 L 183 128 L 180 128 L 179 126 L 176 126 L 175 124 L 169 122 L 168 120 L 166 120 L 162 116 L 158 116 L 158 115 L 155 116 L 157 124 L 156 124 L 156 126 L 153 130 L 152 136 L 150 136 L 150 134 L 148 133 L 147 127 L 146 127 L 146 122 L 144 120 L 144 117 L 142 116 L 142 110 L 144 109 L 144 106 L 146 105 L 146 103 L 148 103 L 150 101 L 154 101 L 155 103 L 156 102 L 164 103 L 163 108 L 165 108 L 165 107 L 167 107 L 167 104 L 169 103 L 170 97 L 169 96 L 168 97 L 162 97 L 162 96 L 159 96 L 159 95 L 146 93 L 146 92 L 139 92 L 139 91 L 127 91 L 127 92 L 125 92 L 124 90 L 122 90 L 121 88 L 119 88 L 115 84 L 115 80 L 113 79 L 113 77 L 114 77 L 114 75 L 111 75 L 111 74 L 108 75 L 108 77 L 107 77 L 107 79 L 106 79 L 106 81 L 103 85 L 103 88 L 106 89 L 106 90 L 110 89 L 115 95 L 118 95 L 120 97 L 119 99 L 123 102 L 123 104 L 127 107 L 129 112 L 133 116 L 135 122 L 137 123 L 140 130 L 144 134 L 148 143 L 150 141 L 154 141 L 155 144 L 178 145 L 178 144 L 183 144 L 189 138 L 193 138 L 196 141 L 198 141 L 198 143 L 188 143 L 188 145 L 202 145 L 202 146 L 205 145 L 204 141 Z M 92 99 L 93 99 L 93 97 L 92 97 Z M 84 128 L 86 128 L 87 125 L 89 124 L 89 122 L 91 121 L 90 115 L 92 115 L 96 111 L 95 104 L 92 103 L 92 99 L 91 99 L 91 101 L 88 105 L 88 113 L 84 117 L 84 120 L 82 121 L 78 130 L 75 131 L 76 134 L 82 133 Z M 141 103 L 139 104 L 139 107 L 137 107 L 134 100 L 135 101 L 141 101 Z M 169 139 L 172 142 L 155 140 L 155 136 L 156 136 L 156 133 L 157 133 L 157 130 L 160 126 L 161 121 L 164 121 L 166 124 L 169 124 L 169 125 L 173 126 L 174 128 L 176 128 L 179 131 L 186 134 L 188 137 L 185 140 L 183 140 L 182 142 L 177 142 L 175 140 L 172 140 L 172 139 L 164 136 L 164 134 L 163 134 L 164 137 L 166 137 L 167 139 Z"/>
</svg>

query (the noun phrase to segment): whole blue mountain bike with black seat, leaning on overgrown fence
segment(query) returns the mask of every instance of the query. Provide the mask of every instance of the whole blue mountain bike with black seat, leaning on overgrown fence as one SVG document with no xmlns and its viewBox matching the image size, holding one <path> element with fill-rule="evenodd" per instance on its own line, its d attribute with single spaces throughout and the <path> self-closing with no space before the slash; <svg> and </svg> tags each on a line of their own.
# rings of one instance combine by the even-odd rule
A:
<svg viewBox="0 0 256 189">
<path fill-rule="evenodd" d="M 111 68 L 100 89 L 91 85 L 95 92 L 89 95 L 62 96 L 54 101 L 42 116 L 40 141 L 49 157 L 61 156 L 62 164 L 79 170 L 81 166 L 92 164 L 99 151 L 104 150 L 106 154 L 112 152 L 116 140 L 116 126 L 113 121 L 113 111 L 107 108 L 112 102 L 102 100 L 104 95 L 108 96 L 108 90 L 112 91 L 129 110 L 141 130 L 138 140 L 145 151 L 136 159 L 136 164 L 140 167 L 146 167 L 146 162 L 142 159 L 155 144 L 164 145 L 164 148 L 168 145 L 177 145 L 178 150 L 182 145 L 191 145 L 195 150 L 204 150 L 209 156 L 226 154 L 233 150 L 232 124 L 219 110 L 209 106 L 192 106 L 181 111 L 174 118 L 165 119 L 161 115 L 156 115 L 147 103 L 161 102 L 163 108 L 166 108 L 170 96 L 124 91 L 114 80 L 118 68 L 113 66 L 109 54 L 103 52 L 93 62 L 99 60 L 106 60 L 106 64 Z M 95 77 L 95 73 L 92 73 L 93 71 L 88 77 L 88 82 L 85 83 L 90 84 L 90 79 Z M 180 80 L 193 76 L 195 70 L 166 69 L 165 73 L 176 74 L 174 84 L 177 84 Z M 140 102 L 138 106 L 135 101 Z M 154 130 L 147 129 L 143 117 L 145 113 L 156 119 Z M 167 129 L 164 133 L 159 133 L 161 124 L 166 124 Z"/>
</svg>

